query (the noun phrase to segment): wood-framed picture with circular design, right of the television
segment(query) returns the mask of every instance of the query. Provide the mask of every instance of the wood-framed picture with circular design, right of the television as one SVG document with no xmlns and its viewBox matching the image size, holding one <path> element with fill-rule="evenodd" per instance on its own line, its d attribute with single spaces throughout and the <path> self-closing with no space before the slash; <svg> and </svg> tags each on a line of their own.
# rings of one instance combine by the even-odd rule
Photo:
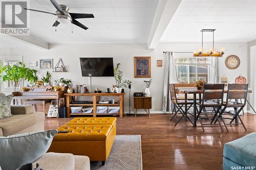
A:
<svg viewBox="0 0 256 170">
<path fill-rule="evenodd" d="M 134 77 L 151 78 L 151 57 L 134 57 Z"/>
</svg>

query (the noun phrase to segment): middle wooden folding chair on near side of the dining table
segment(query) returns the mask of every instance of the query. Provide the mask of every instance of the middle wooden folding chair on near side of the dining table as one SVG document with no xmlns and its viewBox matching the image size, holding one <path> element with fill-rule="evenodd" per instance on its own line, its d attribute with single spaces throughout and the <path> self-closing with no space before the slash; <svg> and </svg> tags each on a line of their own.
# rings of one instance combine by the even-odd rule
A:
<svg viewBox="0 0 256 170">
<path fill-rule="evenodd" d="M 204 84 L 203 88 L 203 98 L 200 102 L 197 102 L 197 105 L 199 105 L 199 112 L 197 115 L 197 119 L 199 118 L 201 127 L 204 132 L 204 126 L 205 125 L 219 125 L 222 129 L 220 118 L 218 115 L 222 104 L 223 104 L 223 94 L 224 94 L 224 84 Z M 206 110 L 204 108 L 211 108 L 210 110 Z M 201 114 L 205 115 L 204 117 L 201 116 Z M 212 119 L 216 119 L 219 124 L 203 124 L 202 119 L 210 119 L 210 116 L 213 115 Z"/>
</svg>

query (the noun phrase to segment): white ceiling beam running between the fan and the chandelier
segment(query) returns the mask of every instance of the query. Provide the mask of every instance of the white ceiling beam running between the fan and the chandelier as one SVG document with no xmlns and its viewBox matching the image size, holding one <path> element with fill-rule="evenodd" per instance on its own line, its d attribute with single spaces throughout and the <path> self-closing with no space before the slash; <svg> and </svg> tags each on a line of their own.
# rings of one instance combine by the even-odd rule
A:
<svg viewBox="0 0 256 170">
<path fill-rule="evenodd" d="M 181 0 L 159 0 L 150 36 L 147 41 L 148 50 L 154 50 L 156 48 L 180 3 Z"/>
</svg>

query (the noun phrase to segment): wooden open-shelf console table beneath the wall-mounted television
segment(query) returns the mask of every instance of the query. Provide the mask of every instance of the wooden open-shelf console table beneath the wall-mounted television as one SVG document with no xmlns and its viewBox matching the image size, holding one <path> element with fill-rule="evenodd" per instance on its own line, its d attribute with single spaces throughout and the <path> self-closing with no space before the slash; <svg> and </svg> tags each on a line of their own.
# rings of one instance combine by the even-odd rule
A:
<svg viewBox="0 0 256 170">
<path fill-rule="evenodd" d="M 67 117 L 71 115 L 119 115 L 119 117 L 123 116 L 123 95 L 125 93 L 66 93 L 66 106 L 67 106 Z M 72 104 L 72 101 L 75 101 L 77 96 L 91 96 L 93 103 L 92 104 Z M 108 96 L 118 96 L 119 103 L 118 104 L 99 104 L 100 96 L 104 99 Z M 71 106 L 92 106 L 93 113 L 70 113 Z M 96 113 L 97 106 L 119 106 L 119 113 Z"/>
</svg>

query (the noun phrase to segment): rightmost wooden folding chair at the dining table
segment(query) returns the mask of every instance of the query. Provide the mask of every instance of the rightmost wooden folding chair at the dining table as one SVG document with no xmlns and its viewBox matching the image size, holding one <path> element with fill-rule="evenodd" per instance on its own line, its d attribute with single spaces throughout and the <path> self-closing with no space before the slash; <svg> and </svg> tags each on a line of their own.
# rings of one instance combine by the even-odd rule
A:
<svg viewBox="0 0 256 170">
<path fill-rule="evenodd" d="M 247 94 L 248 94 L 248 84 L 228 84 L 228 90 L 227 90 L 227 99 L 225 102 L 223 102 L 224 108 L 221 109 L 219 117 L 223 120 L 223 123 L 225 125 L 226 130 L 228 131 L 228 128 L 226 125 L 233 125 L 232 122 L 236 120 L 237 118 L 240 119 L 241 124 L 243 125 L 244 129 L 247 131 L 244 122 L 242 118 L 240 117 L 240 112 L 244 109 L 246 105 L 247 100 Z M 234 101 L 232 101 L 234 100 Z M 240 102 L 239 102 L 240 100 Z M 242 102 L 242 100 L 244 102 Z M 226 108 L 233 108 L 234 111 L 226 111 Z M 232 115 L 232 118 L 230 117 L 223 117 L 223 115 Z M 230 123 L 226 124 L 225 119 L 230 119 Z M 216 123 L 216 121 L 215 121 Z M 241 125 L 239 122 L 234 123 L 234 125 L 238 126 Z"/>
</svg>

